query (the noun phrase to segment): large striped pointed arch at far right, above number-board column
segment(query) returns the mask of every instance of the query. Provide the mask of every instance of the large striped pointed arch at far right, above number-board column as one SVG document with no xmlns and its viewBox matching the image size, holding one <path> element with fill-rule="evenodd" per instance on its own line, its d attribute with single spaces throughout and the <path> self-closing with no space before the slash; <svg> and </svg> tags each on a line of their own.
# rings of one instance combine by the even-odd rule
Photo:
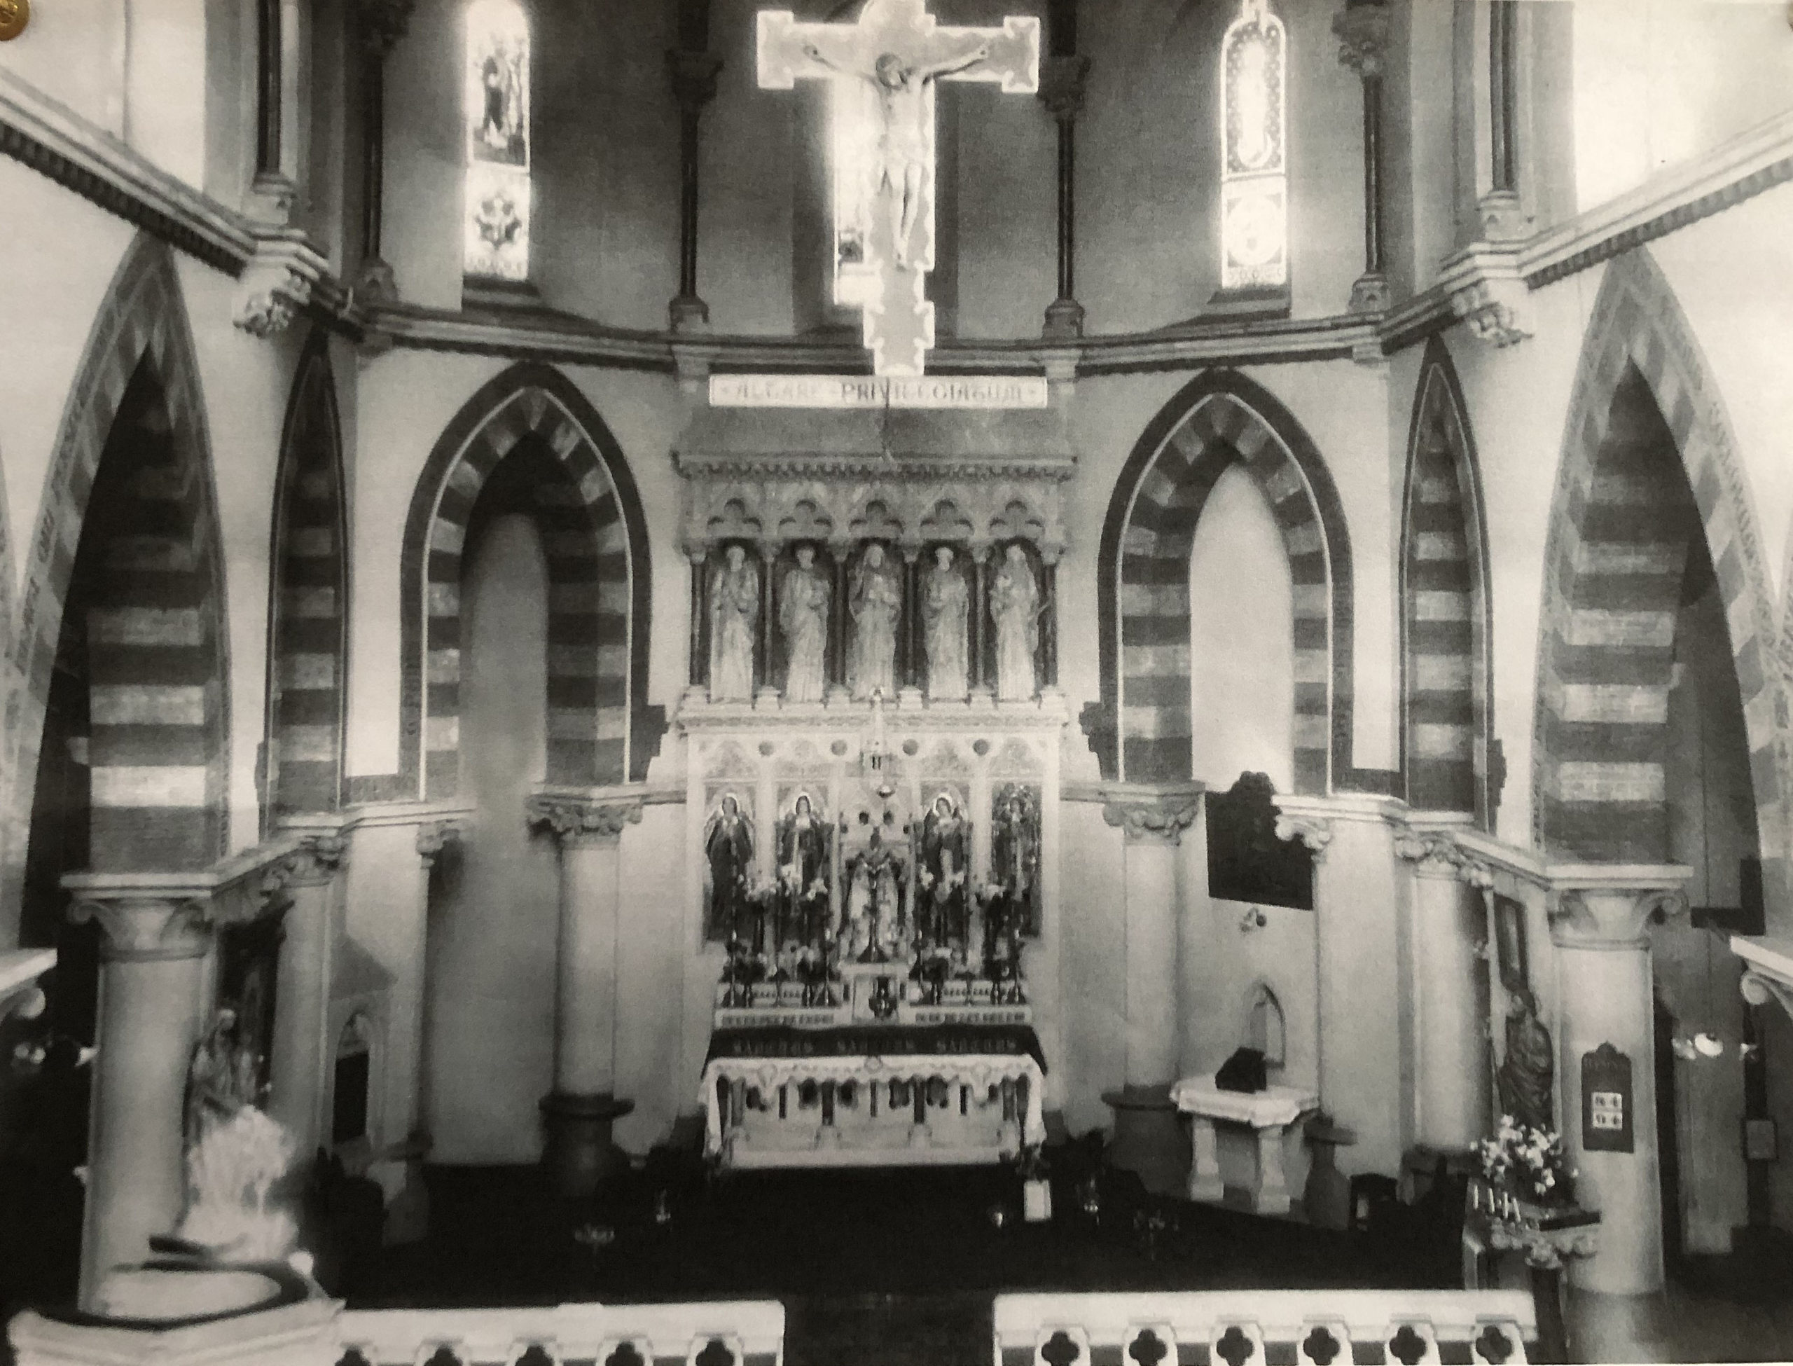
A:
<svg viewBox="0 0 1793 1366">
<path fill-rule="evenodd" d="M 1639 247 L 1607 267 L 1594 301 L 1546 541 L 1533 834 L 1553 855 L 1666 855 L 1675 620 L 1702 531 L 1743 699 L 1764 886 L 1784 895 L 1786 696 L 1763 540 L 1718 385 Z"/>
</svg>

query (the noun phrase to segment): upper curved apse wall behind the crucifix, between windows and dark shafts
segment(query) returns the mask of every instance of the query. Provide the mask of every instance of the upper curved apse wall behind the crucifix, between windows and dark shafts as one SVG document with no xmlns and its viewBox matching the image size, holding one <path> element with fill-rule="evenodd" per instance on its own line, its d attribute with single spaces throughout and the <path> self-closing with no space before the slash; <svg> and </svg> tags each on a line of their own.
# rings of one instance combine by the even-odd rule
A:
<svg viewBox="0 0 1793 1366">
<path fill-rule="evenodd" d="M 805 109 L 816 100 L 758 88 L 762 7 L 712 7 L 710 52 L 723 68 L 703 113 L 699 294 L 717 332 L 785 335 L 800 330 L 794 195 L 809 179 Z M 827 18 L 836 7 L 800 9 L 801 18 Z M 934 5 L 943 22 L 965 23 L 1044 9 L 1044 0 Z M 1078 124 L 1078 298 L 1092 332 L 1192 319 L 1217 287 L 1214 82 L 1230 13 L 1162 0 L 1085 11 L 1079 43 L 1094 65 Z M 1330 7 L 1289 4 L 1280 13 L 1289 30 L 1289 174 L 1300 186 L 1289 217 L 1293 312 L 1330 316 L 1345 310 L 1363 271 L 1361 86 L 1338 63 Z M 461 307 L 459 14 L 455 4 L 420 5 L 385 68 L 387 258 L 403 298 L 437 308 Z M 549 307 L 611 326 L 663 328 L 678 287 L 678 106 L 665 73 L 672 18 L 658 0 L 533 9 L 533 283 Z M 1036 337 L 1056 294 L 1056 125 L 1036 99 L 995 86 L 966 84 L 952 99 L 957 333 Z M 1162 129 L 1182 134 L 1148 136 Z"/>
</svg>

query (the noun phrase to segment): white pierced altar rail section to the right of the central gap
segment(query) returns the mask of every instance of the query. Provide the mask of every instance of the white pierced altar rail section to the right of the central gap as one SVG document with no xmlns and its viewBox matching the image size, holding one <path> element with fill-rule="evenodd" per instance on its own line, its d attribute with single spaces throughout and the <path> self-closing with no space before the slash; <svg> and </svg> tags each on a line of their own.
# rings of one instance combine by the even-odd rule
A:
<svg viewBox="0 0 1793 1366">
<path fill-rule="evenodd" d="M 1537 1361 L 1524 1291 L 999 1294 L 995 1366 L 1513 1366 Z"/>
</svg>

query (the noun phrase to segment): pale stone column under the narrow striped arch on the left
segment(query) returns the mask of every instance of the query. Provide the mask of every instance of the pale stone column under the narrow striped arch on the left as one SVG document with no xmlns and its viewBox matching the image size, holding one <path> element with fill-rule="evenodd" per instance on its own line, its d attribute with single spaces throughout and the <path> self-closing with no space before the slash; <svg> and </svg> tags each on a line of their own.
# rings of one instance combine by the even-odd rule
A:
<svg viewBox="0 0 1793 1366">
<path fill-rule="evenodd" d="M 296 1163 L 303 1165 L 325 1140 L 325 1067 L 333 1058 L 330 1029 L 330 895 L 337 868 L 348 852 L 339 834 L 301 835 L 299 850 L 285 860 L 285 886 L 292 905 L 280 947 L 280 979 L 274 990 L 274 1043 L 269 1072 L 273 1094 L 267 1113 L 292 1135 Z"/>
</svg>

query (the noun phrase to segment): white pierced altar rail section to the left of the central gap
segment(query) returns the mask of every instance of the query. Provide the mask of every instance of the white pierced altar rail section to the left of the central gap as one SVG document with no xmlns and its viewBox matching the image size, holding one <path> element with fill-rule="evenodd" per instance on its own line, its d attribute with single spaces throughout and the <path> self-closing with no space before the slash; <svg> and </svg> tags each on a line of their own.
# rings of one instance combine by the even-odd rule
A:
<svg viewBox="0 0 1793 1366">
<path fill-rule="evenodd" d="M 337 1366 L 780 1366 L 784 1305 L 357 1309 L 337 1341 Z"/>
</svg>

